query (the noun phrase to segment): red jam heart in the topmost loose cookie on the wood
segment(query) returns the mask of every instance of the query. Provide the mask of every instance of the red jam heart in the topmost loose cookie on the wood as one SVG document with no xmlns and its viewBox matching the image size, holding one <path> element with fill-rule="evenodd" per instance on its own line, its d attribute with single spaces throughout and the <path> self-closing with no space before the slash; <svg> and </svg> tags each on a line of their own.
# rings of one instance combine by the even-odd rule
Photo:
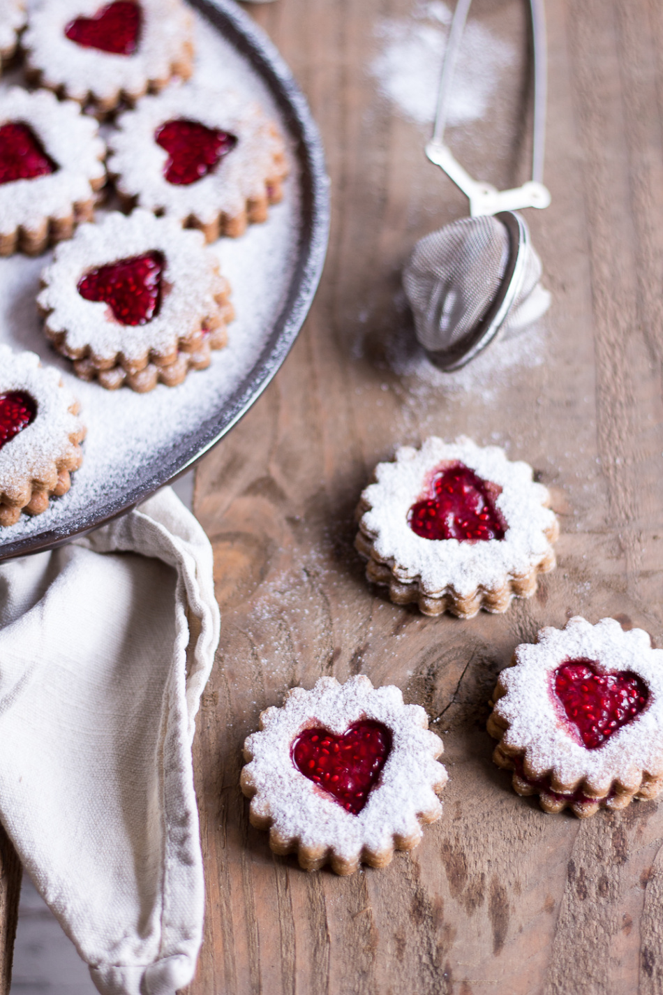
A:
<svg viewBox="0 0 663 995">
<path fill-rule="evenodd" d="M 445 466 L 433 473 L 427 494 L 411 507 L 410 527 L 422 539 L 503 539 L 507 524 L 495 504 L 500 493 L 464 463 Z"/>
</svg>

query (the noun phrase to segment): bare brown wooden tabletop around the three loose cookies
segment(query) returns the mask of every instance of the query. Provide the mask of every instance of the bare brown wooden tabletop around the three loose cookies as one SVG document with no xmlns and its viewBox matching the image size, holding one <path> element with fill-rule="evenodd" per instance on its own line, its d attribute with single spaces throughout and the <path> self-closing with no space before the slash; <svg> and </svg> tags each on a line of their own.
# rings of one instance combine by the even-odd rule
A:
<svg viewBox="0 0 663 995">
<path fill-rule="evenodd" d="M 525 6 L 476 0 L 472 18 L 518 53 Z M 333 225 L 290 357 L 197 478 L 223 636 L 195 744 L 207 919 L 189 995 L 663 992 L 660 806 L 547 816 L 511 792 L 485 732 L 496 674 L 543 625 L 614 615 L 663 645 L 663 5 L 547 8 L 553 204 L 528 222 L 554 306 L 447 379 L 416 356 L 400 272 L 466 207 L 367 70 L 381 25 L 423 24 L 423 8 L 251 8 L 320 123 Z M 500 185 L 526 175 L 526 78 L 515 58 L 487 119 L 452 136 Z M 379 460 L 433 431 L 506 446 L 555 495 L 558 569 L 504 616 L 426 619 L 364 579 L 357 498 Z M 356 673 L 426 708 L 444 814 L 385 870 L 306 875 L 249 826 L 241 746 L 289 687 Z"/>
</svg>

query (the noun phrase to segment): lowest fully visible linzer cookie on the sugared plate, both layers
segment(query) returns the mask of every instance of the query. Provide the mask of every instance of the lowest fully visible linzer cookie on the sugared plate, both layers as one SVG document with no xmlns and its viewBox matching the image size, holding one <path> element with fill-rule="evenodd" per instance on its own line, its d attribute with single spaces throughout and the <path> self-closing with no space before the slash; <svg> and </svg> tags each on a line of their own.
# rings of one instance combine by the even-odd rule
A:
<svg viewBox="0 0 663 995">
<path fill-rule="evenodd" d="M 113 390 L 174 387 L 210 365 L 233 317 L 201 232 L 148 211 L 83 225 L 42 274 L 46 333 L 83 380 Z"/>
</svg>

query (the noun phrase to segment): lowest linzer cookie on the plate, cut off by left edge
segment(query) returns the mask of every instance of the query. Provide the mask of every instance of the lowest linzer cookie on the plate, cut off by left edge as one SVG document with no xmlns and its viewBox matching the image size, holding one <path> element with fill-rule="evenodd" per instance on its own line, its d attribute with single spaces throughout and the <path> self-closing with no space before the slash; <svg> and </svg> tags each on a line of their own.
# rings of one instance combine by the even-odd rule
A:
<svg viewBox="0 0 663 995">
<path fill-rule="evenodd" d="M 79 404 L 34 352 L 0 345 L 0 526 L 41 514 L 83 462 Z"/>
</svg>

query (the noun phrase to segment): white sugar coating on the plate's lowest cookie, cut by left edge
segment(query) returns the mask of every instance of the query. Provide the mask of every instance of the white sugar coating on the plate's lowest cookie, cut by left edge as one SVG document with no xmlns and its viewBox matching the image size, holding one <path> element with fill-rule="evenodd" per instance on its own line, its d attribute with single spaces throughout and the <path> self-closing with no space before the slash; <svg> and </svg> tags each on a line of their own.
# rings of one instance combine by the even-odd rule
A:
<svg viewBox="0 0 663 995">
<path fill-rule="evenodd" d="M 25 391 L 37 404 L 35 420 L 0 449 L 0 498 L 16 499 L 26 484 L 53 477 L 83 426 L 70 410 L 76 397 L 57 370 L 41 366 L 34 352 L 0 345 L 0 395 L 10 391 Z"/>
</svg>

